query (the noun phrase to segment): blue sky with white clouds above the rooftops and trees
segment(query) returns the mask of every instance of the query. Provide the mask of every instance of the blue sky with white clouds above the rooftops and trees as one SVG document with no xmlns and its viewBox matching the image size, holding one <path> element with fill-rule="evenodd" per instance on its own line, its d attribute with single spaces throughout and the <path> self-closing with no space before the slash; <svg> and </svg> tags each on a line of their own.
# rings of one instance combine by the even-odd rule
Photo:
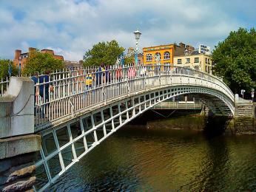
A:
<svg viewBox="0 0 256 192">
<path fill-rule="evenodd" d="M 0 0 L 0 58 L 16 49 L 53 49 L 79 61 L 93 44 L 115 39 L 135 47 L 205 44 L 211 49 L 239 27 L 256 27 L 255 0 Z"/>
</svg>

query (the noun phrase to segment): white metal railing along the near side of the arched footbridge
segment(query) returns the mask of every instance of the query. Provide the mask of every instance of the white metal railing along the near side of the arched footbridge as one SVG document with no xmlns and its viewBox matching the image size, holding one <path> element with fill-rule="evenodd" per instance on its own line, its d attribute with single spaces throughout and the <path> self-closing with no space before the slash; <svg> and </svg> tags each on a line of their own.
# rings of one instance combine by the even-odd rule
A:
<svg viewBox="0 0 256 192">
<path fill-rule="evenodd" d="M 165 78 L 164 78 L 165 77 Z M 174 78 L 175 77 L 175 78 Z M 40 75 L 35 85 L 35 127 L 44 127 L 54 120 L 122 95 L 129 95 L 166 84 L 208 86 L 224 92 L 230 100 L 231 90 L 213 75 L 166 65 L 127 65 L 67 69 Z M 164 82 L 161 82 L 163 78 Z M 163 81 L 162 80 L 162 81 Z"/>
</svg>

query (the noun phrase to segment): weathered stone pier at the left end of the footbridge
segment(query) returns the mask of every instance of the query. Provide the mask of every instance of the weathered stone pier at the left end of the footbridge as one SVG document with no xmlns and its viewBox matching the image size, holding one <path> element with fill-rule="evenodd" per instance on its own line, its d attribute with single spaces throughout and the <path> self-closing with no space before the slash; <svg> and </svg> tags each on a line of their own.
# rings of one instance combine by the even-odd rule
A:
<svg viewBox="0 0 256 192">
<path fill-rule="evenodd" d="M 41 136 L 34 133 L 34 83 L 12 77 L 0 97 L 0 191 L 30 190 L 36 182 L 36 151 Z"/>
</svg>

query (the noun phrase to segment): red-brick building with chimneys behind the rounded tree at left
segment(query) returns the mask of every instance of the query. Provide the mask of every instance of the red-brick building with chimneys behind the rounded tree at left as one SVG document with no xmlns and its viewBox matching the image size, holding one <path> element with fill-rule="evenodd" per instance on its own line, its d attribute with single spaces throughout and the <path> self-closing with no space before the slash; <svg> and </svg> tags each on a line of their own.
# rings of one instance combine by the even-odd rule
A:
<svg viewBox="0 0 256 192">
<path fill-rule="evenodd" d="M 33 47 L 30 47 L 28 49 L 28 52 L 24 52 L 24 53 L 22 53 L 21 50 L 16 49 L 15 56 L 14 56 L 14 59 L 13 59 L 13 64 L 15 64 L 17 67 L 19 66 L 19 64 L 21 64 L 21 69 L 23 69 L 25 64 L 26 64 L 27 58 L 29 57 L 29 55 L 32 52 L 35 52 L 35 51 L 36 51 L 36 48 L 33 48 Z M 51 50 L 51 49 L 41 49 L 41 52 L 42 53 L 48 53 L 50 55 L 53 55 L 53 58 L 64 61 L 64 58 L 63 58 L 62 55 L 55 55 L 54 51 Z"/>
</svg>

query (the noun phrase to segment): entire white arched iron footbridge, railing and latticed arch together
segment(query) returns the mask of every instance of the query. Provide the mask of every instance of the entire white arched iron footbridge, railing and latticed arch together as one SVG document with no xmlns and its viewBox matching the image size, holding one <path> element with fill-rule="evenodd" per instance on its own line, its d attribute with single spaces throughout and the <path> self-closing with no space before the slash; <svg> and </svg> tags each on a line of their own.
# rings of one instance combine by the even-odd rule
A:
<svg viewBox="0 0 256 192">
<path fill-rule="evenodd" d="M 169 98 L 192 93 L 234 114 L 234 95 L 222 80 L 178 66 L 63 70 L 49 79 L 41 75 L 38 82 L 35 132 L 42 136 L 42 147 L 36 191 L 44 191 L 118 128 Z"/>
</svg>

